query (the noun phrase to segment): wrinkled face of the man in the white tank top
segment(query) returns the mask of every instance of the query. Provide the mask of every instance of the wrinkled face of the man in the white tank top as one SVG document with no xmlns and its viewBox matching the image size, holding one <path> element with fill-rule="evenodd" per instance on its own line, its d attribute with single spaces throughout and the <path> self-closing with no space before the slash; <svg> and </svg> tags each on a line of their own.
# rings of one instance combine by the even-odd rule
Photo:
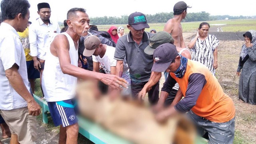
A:
<svg viewBox="0 0 256 144">
<path fill-rule="evenodd" d="M 88 14 L 77 11 L 76 16 L 71 19 L 72 28 L 79 36 L 86 36 L 90 28 L 90 19 Z"/>
</svg>

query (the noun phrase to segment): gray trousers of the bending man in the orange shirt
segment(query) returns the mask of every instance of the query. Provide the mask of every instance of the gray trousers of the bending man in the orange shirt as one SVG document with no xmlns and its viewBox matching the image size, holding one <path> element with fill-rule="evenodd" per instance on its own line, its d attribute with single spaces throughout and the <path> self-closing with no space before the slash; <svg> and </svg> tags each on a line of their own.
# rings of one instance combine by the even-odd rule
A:
<svg viewBox="0 0 256 144">
<path fill-rule="evenodd" d="M 209 144 L 233 144 L 235 118 L 232 118 L 228 122 L 212 122 L 194 114 L 191 110 L 188 112 L 188 116 L 195 123 L 200 136 L 208 132 Z"/>
</svg>

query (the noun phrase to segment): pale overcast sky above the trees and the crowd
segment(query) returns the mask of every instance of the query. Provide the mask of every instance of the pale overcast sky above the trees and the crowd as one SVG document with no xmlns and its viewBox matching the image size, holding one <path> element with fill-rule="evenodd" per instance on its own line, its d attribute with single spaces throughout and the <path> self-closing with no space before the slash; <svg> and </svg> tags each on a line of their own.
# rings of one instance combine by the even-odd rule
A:
<svg viewBox="0 0 256 144">
<path fill-rule="evenodd" d="M 28 0 L 30 7 L 30 21 L 38 16 L 37 4 L 48 2 L 52 10 L 51 18 L 54 21 L 63 22 L 70 8 L 85 8 L 89 17 L 130 15 L 133 12 L 144 14 L 156 14 L 160 12 L 172 12 L 173 6 L 179 0 Z M 255 0 L 186 0 L 190 12 L 205 11 L 210 15 L 230 16 L 256 16 Z"/>
</svg>

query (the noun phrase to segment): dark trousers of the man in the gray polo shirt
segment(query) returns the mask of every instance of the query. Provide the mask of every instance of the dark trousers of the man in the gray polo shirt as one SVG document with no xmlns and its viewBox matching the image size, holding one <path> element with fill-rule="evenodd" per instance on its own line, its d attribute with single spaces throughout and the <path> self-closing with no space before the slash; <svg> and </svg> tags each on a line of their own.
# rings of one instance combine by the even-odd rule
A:
<svg viewBox="0 0 256 144">
<path fill-rule="evenodd" d="M 138 93 L 142 90 L 147 82 L 131 82 L 132 96 L 137 98 Z M 159 100 L 159 82 L 152 86 L 152 89 L 148 92 L 148 101 L 150 104 L 157 104 Z"/>
</svg>

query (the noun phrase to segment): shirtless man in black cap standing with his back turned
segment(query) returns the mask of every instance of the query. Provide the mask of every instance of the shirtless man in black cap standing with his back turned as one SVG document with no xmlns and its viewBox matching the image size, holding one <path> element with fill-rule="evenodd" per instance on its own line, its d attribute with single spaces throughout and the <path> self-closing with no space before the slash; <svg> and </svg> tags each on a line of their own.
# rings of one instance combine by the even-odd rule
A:
<svg viewBox="0 0 256 144">
<path fill-rule="evenodd" d="M 192 7 L 188 6 L 183 1 L 177 2 L 173 8 L 174 17 L 168 20 L 168 22 L 166 22 L 166 24 L 164 25 L 164 31 L 172 34 L 172 37 L 174 38 L 174 45 L 179 48 L 186 48 L 185 42 L 183 40 L 182 26 L 180 22 L 185 19 L 187 15 L 187 8 Z"/>
</svg>

